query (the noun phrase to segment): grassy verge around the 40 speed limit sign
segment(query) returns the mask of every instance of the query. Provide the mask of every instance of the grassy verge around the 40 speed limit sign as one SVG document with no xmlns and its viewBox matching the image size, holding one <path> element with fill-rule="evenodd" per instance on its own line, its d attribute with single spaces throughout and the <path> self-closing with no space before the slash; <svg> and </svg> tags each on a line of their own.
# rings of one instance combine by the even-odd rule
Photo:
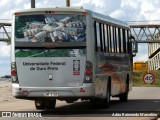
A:
<svg viewBox="0 0 160 120">
<path fill-rule="evenodd" d="M 149 72 L 155 76 L 155 81 L 152 84 L 146 84 L 143 81 L 143 76 L 147 73 L 147 71 L 133 71 L 133 86 L 160 87 L 160 70 Z"/>
</svg>

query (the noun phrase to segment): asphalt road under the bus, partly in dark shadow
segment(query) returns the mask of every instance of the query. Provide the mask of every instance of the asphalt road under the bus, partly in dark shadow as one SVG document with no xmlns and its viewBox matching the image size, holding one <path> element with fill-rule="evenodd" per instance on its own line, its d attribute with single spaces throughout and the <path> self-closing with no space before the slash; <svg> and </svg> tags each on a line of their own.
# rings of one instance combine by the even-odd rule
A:
<svg viewBox="0 0 160 120">
<path fill-rule="evenodd" d="M 76 119 L 85 118 L 85 120 L 108 119 L 116 120 L 117 117 L 112 116 L 113 113 L 160 113 L 160 87 L 133 87 L 129 93 L 128 102 L 120 102 L 117 98 L 112 98 L 109 108 L 100 108 L 98 105 L 92 105 L 88 101 L 78 101 L 67 104 L 63 101 L 57 101 L 54 111 L 38 111 L 34 107 L 33 101 L 17 100 L 11 96 L 11 83 L 0 82 L 0 111 L 31 111 L 41 113 L 45 119 Z M 118 119 L 131 120 L 156 120 L 158 117 L 119 117 Z M 0 118 L 4 119 L 4 118 Z M 13 119 L 13 118 L 12 118 Z M 16 120 L 16 118 L 14 118 Z M 35 119 L 35 118 L 34 118 Z M 38 118 L 37 118 L 38 120 Z"/>
</svg>

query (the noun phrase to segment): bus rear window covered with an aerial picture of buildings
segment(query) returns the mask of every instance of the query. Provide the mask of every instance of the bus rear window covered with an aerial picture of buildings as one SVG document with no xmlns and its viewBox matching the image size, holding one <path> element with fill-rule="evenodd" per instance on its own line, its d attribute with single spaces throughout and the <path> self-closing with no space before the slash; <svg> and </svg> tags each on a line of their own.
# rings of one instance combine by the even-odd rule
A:
<svg viewBox="0 0 160 120">
<path fill-rule="evenodd" d="M 86 17 L 76 14 L 42 14 L 16 16 L 15 41 L 86 41 Z"/>
</svg>

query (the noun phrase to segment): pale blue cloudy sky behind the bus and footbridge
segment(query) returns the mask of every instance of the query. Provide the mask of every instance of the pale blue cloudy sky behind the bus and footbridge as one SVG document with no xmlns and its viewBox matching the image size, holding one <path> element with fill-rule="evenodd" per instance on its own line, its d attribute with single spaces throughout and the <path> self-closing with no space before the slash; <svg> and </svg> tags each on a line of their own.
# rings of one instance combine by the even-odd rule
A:
<svg viewBox="0 0 160 120">
<path fill-rule="evenodd" d="M 160 20 L 160 0 L 70 0 L 71 6 L 83 6 L 122 21 Z M 66 0 L 36 0 L 37 8 L 65 6 Z M 30 0 L 0 0 L 0 19 L 11 19 L 12 13 L 29 9 Z M 148 60 L 147 45 L 139 45 L 134 61 Z M 10 74 L 10 45 L 0 43 L 0 76 Z"/>
</svg>

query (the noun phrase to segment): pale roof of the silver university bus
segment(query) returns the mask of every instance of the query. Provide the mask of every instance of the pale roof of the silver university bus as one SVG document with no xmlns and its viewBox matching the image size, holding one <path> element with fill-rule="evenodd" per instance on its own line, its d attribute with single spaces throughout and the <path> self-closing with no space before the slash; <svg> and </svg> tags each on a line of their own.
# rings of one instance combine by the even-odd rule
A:
<svg viewBox="0 0 160 120">
<path fill-rule="evenodd" d="M 59 12 L 87 12 L 88 14 L 91 14 L 93 18 L 107 22 L 113 25 L 118 25 L 121 27 L 127 27 L 129 28 L 129 25 L 126 22 L 111 18 L 110 16 L 103 15 L 100 13 L 93 12 L 91 10 L 83 9 L 83 7 L 55 7 L 55 8 L 33 8 L 33 9 L 24 9 L 24 10 L 19 10 L 15 13 L 26 13 L 26 12 L 39 12 L 39 11 L 59 11 Z"/>
</svg>

